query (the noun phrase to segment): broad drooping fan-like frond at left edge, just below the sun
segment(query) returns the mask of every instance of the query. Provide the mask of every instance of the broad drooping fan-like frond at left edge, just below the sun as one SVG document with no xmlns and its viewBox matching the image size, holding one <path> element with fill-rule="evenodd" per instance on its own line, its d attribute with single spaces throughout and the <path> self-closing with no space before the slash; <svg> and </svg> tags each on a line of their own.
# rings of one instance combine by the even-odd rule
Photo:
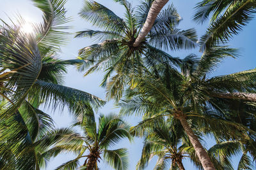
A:
<svg viewBox="0 0 256 170">
<path fill-rule="evenodd" d="M 3 81 L 1 97 L 8 99 L 2 111 L 14 113 L 38 78 L 42 60 L 36 41 L 31 36 L 6 24 L 0 29 L 0 67 L 8 70 L 0 78 Z"/>
</svg>

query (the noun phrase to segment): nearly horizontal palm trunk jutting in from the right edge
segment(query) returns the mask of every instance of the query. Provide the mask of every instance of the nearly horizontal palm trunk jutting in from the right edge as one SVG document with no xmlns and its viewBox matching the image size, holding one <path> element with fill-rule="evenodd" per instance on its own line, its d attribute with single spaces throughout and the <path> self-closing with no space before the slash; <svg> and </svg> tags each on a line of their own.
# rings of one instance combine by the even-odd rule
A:
<svg viewBox="0 0 256 170">
<path fill-rule="evenodd" d="M 213 97 L 225 98 L 225 99 L 241 99 L 246 101 L 256 102 L 256 94 L 253 93 L 243 93 L 243 92 L 235 92 L 235 93 L 220 93 L 214 92 L 211 94 Z"/>
</svg>

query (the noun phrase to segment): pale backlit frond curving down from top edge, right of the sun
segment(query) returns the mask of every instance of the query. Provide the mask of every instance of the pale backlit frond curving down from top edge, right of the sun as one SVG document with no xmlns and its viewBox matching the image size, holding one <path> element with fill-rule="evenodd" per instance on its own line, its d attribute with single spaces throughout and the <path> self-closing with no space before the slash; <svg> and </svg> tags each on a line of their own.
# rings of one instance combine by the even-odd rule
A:
<svg viewBox="0 0 256 170">
<path fill-rule="evenodd" d="M 36 42 L 40 48 L 58 50 L 61 44 L 67 43 L 68 33 L 64 29 L 70 27 L 63 26 L 70 21 L 66 17 L 65 0 L 32 0 L 35 6 L 43 12 L 44 21 L 42 24 L 34 25 Z"/>
</svg>

